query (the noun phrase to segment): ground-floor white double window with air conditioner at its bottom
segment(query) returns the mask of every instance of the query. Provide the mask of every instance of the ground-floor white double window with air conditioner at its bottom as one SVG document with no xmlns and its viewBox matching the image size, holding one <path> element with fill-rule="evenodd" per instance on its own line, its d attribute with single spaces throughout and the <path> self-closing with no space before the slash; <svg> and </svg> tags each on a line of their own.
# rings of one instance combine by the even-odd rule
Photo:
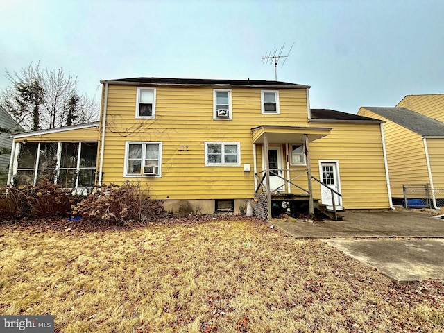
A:
<svg viewBox="0 0 444 333">
<path fill-rule="evenodd" d="M 162 142 L 126 142 L 125 176 L 161 176 Z"/>
</svg>

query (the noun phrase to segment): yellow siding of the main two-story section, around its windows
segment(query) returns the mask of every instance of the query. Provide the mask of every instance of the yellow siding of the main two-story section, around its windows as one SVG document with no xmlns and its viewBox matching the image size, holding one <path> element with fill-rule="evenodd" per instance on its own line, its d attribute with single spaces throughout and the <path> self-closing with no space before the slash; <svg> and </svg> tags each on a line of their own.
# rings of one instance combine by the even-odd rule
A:
<svg viewBox="0 0 444 333">
<path fill-rule="evenodd" d="M 212 87 L 156 87 L 155 119 L 135 119 L 136 89 L 109 85 L 103 182 L 139 180 L 156 198 L 250 198 L 251 128 L 307 125 L 305 89 L 281 89 L 280 115 L 263 115 L 261 89 L 233 87 L 232 120 L 213 119 Z M 123 177 L 126 141 L 163 142 L 161 178 Z M 239 142 L 241 164 L 205 167 L 205 142 Z"/>
</svg>

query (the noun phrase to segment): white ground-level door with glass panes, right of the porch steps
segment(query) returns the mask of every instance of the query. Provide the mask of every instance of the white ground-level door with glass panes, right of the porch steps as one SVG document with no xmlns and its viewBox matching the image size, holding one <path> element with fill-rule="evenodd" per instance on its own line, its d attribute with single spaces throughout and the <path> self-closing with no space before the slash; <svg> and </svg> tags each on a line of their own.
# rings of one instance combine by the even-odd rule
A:
<svg viewBox="0 0 444 333">
<path fill-rule="evenodd" d="M 321 186 L 321 200 L 324 205 L 327 205 L 329 210 L 333 209 L 332 191 L 330 188 L 341 193 L 341 182 L 339 180 L 339 163 L 336 161 L 319 161 L 319 173 L 321 173 L 321 182 L 324 185 Z M 334 204 L 336 210 L 343 210 L 342 198 L 337 194 L 334 194 Z"/>
</svg>

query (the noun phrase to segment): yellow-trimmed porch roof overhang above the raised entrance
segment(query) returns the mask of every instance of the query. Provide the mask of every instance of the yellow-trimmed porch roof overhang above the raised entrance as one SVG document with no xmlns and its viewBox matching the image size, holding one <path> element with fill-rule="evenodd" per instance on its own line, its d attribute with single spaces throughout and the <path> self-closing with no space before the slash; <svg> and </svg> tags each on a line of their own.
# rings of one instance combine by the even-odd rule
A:
<svg viewBox="0 0 444 333">
<path fill-rule="evenodd" d="M 304 144 L 307 135 L 308 142 L 312 142 L 330 134 L 332 128 L 311 126 L 278 126 L 262 125 L 252 128 L 253 144 L 263 144 L 266 134 L 268 144 Z"/>
</svg>

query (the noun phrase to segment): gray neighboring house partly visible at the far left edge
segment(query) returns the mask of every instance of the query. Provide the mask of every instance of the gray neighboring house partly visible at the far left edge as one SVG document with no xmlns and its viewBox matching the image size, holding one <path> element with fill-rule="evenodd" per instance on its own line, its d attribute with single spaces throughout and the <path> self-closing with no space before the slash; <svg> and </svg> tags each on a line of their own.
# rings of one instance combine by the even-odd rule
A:
<svg viewBox="0 0 444 333">
<path fill-rule="evenodd" d="M 0 105 L 0 186 L 6 185 L 8 178 L 10 150 L 14 133 L 22 132 L 23 129 L 17 125 L 14 119 Z"/>
</svg>

